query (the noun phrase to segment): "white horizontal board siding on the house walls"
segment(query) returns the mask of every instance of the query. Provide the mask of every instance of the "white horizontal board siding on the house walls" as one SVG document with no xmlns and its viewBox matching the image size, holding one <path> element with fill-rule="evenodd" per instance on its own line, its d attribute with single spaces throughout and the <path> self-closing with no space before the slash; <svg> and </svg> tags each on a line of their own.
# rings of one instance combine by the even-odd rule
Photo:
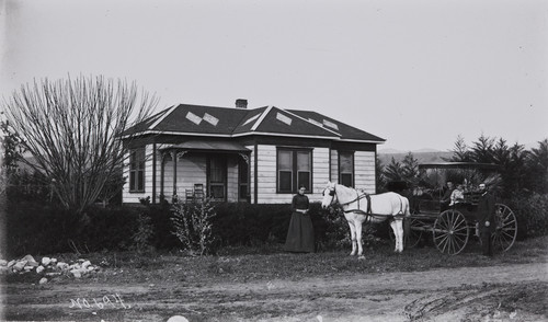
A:
<svg viewBox="0 0 548 322">
<path fill-rule="evenodd" d="M 258 204 L 287 204 L 290 203 L 293 194 L 277 193 L 277 172 L 276 172 L 276 156 L 277 147 L 275 145 L 258 145 L 258 191 L 255 196 L 255 146 L 247 146 L 251 150 L 249 158 L 249 166 L 251 170 L 250 176 L 250 195 L 251 203 Z M 124 203 L 139 203 L 140 198 L 152 198 L 152 145 L 146 146 L 147 160 L 145 162 L 145 192 L 130 193 L 129 182 L 126 182 L 123 188 Z M 127 154 L 128 156 L 128 154 Z M 126 156 L 126 157 L 127 157 Z M 160 152 L 157 156 L 157 175 L 156 175 L 156 192 L 157 197 L 161 194 L 161 160 Z M 227 159 L 227 200 L 238 200 L 238 158 L 239 156 L 230 156 Z M 127 159 L 127 158 L 126 158 Z M 129 161 L 127 159 L 127 161 Z M 201 183 L 206 188 L 206 161 L 205 154 L 185 153 L 178 160 L 176 164 L 176 191 L 181 200 L 185 198 L 185 189 L 194 188 L 194 184 Z M 355 151 L 355 186 L 356 188 L 365 189 L 367 193 L 375 193 L 375 152 Z M 310 202 L 321 199 L 321 192 L 326 183 L 330 180 L 338 182 L 339 180 L 339 152 L 329 148 L 312 149 L 312 192 L 308 194 Z M 124 166 L 124 176 L 129 177 L 129 166 Z M 173 161 L 171 157 L 165 157 L 163 193 L 168 200 L 171 200 L 173 194 Z M 159 198 L 158 198 L 159 199 Z"/>
</svg>

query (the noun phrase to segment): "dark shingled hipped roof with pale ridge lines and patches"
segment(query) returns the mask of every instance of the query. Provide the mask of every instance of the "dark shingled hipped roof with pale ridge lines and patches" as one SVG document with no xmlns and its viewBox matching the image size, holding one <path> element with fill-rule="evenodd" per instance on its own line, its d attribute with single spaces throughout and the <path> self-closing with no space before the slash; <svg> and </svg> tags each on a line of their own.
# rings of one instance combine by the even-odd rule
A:
<svg viewBox="0 0 548 322">
<path fill-rule="evenodd" d="M 248 135 L 309 137 L 383 143 L 385 139 L 317 112 L 215 107 L 180 104 L 163 110 L 125 135 L 172 134 L 241 137 Z"/>
</svg>

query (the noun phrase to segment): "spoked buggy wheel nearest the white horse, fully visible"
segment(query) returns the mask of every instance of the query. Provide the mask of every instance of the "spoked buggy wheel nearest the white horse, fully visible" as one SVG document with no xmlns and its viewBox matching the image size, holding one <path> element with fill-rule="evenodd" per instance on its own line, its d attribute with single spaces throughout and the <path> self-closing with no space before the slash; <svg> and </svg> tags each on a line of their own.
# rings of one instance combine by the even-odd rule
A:
<svg viewBox="0 0 548 322">
<path fill-rule="evenodd" d="M 465 216 L 455 209 L 443 211 L 434 222 L 433 234 L 434 244 L 439 252 L 449 255 L 460 253 L 469 237 Z"/>
</svg>

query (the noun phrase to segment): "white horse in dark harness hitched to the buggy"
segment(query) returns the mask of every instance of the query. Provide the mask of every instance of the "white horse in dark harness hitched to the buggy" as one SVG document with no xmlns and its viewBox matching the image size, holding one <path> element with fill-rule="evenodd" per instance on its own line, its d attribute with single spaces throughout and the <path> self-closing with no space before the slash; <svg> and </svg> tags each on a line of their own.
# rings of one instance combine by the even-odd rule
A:
<svg viewBox="0 0 548 322">
<path fill-rule="evenodd" d="M 333 203 L 339 203 L 350 226 L 352 239 L 351 255 L 362 257 L 362 225 L 366 220 L 381 222 L 390 219 L 390 227 L 396 237 L 395 252 L 403 251 L 403 217 L 410 216 L 408 198 L 397 193 L 367 195 L 354 188 L 328 182 L 323 191 L 321 207 L 326 209 Z M 356 248 L 357 246 L 357 248 Z"/>
</svg>

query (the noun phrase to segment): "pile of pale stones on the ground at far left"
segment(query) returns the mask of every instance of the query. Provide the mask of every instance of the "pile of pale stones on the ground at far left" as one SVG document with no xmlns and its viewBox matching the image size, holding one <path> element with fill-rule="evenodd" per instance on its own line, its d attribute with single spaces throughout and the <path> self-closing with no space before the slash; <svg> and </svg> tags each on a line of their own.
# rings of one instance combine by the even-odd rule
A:
<svg viewBox="0 0 548 322">
<path fill-rule="evenodd" d="M 87 260 L 65 263 L 57 258 L 42 257 L 39 262 L 36 262 L 31 255 L 10 262 L 0 260 L 0 274 L 35 273 L 44 276 L 39 281 L 41 284 L 47 283 L 47 277 L 66 275 L 81 278 L 84 275 L 96 273 L 99 269 L 99 266 L 92 265 Z"/>
</svg>

